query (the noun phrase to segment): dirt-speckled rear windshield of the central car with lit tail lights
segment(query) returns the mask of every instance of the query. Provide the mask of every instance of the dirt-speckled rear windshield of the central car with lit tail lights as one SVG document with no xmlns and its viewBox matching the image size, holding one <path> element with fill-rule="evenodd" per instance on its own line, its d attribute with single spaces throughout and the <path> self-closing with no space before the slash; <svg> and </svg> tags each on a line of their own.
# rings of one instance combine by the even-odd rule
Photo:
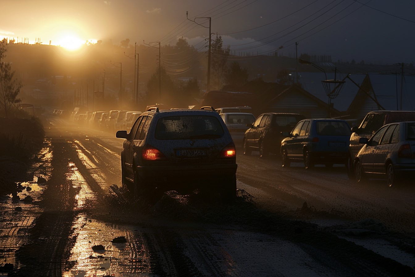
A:
<svg viewBox="0 0 415 277">
<path fill-rule="evenodd" d="M 154 136 L 158 140 L 210 139 L 224 135 L 214 116 L 181 115 L 160 118 Z"/>
</svg>

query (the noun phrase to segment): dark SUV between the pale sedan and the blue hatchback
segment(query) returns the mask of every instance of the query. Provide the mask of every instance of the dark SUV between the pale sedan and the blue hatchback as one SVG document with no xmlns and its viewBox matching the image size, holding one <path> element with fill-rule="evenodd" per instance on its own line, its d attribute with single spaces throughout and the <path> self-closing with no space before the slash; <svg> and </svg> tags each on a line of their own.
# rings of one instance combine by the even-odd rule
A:
<svg viewBox="0 0 415 277">
<path fill-rule="evenodd" d="M 252 151 L 259 151 L 259 157 L 268 156 L 269 153 L 279 154 L 283 136 L 281 132 L 290 132 L 298 121 L 304 119 L 298 113 L 263 113 L 255 122 L 247 127 L 242 145 L 244 154 L 250 155 Z"/>
</svg>

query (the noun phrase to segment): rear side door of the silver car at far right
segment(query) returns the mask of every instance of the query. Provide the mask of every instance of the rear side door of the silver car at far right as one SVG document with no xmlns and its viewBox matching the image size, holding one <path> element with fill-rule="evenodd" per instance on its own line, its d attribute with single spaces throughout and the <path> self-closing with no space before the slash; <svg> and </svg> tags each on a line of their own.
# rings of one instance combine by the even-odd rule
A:
<svg viewBox="0 0 415 277">
<path fill-rule="evenodd" d="M 374 172 L 386 173 L 385 162 L 390 152 L 394 150 L 393 145 L 399 142 L 399 124 L 389 125 L 374 155 Z"/>
</svg>

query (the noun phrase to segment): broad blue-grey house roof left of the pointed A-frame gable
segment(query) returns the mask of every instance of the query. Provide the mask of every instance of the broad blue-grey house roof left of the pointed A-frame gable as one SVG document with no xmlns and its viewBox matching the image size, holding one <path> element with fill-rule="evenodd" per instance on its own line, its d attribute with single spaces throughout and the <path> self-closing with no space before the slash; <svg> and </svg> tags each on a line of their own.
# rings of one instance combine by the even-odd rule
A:
<svg viewBox="0 0 415 277">
<path fill-rule="evenodd" d="M 327 79 L 334 79 L 334 73 L 326 73 Z M 329 97 L 326 94 L 325 88 L 322 81 L 326 78 L 322 72 L 298 72 L 298 81 L 301 83 L 303 89 L 308 91 L 311 95 L 316 98 L 328 103 Z M 350 74 L 349 77 L 357 83 L 359 86 L 363 82 L 366 74 Z M 336 80 L 343 80 L 346 74 L 337 72 Z M 336 98 L 331 99 L 333 108 L 340 112 L 346 111 L 353 99 L 356 96 L 359 88 L 349 79 L 345 80 L 342 90 Z M 333 86 L 334 87 L 334 86 Z"/>
</svg>

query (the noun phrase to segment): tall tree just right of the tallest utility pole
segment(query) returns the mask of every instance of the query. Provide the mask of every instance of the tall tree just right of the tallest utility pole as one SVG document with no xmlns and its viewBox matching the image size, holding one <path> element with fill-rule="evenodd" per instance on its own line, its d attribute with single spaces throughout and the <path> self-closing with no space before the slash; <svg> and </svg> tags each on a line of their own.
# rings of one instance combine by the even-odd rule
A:
<svg viewBox="0 0 415 277">
<path fill-rule="evenodd" d="M 230 46 L 223 48 L 222 47 L 222 37 L 216 35 L 215 41 L 211 44 L 211 57 L 210 57 L 210 66 L 212 69 L 211 74 L 215 80 L 214 84 L 217 89 L 222 87 L 223 74 L 227 71 L 227 60 L 230 53 Z"/>
</svg>

